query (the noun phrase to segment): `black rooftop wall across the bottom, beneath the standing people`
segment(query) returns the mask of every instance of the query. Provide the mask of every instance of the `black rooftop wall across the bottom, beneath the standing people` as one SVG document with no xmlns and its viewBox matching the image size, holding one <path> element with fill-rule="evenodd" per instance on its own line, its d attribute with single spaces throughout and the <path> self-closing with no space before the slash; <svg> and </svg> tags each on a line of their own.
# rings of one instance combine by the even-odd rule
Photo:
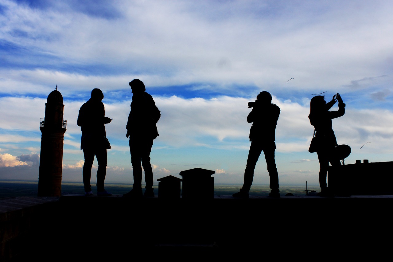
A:
<svg viewBox="0 0 393 262">
<path fill-rule="evenodd" d="M 2 238 L 19 235 L 3 241 L 0 260 L 376 260 L 391 249 L 392 198 L 74 195 L 34 198 L 42 204 L 14 210 L 4 205 L 18 198 L 2 199 Z"/>
</svg>

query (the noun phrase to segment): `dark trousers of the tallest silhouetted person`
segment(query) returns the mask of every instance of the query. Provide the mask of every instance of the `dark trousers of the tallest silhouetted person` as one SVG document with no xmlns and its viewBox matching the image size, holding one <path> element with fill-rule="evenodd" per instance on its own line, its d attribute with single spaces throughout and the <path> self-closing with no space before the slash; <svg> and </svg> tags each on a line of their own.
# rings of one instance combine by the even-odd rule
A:
<svg viewBox="0 0 393 262">
<path fill-rule="evenodd" d="M 153 186 L 153 170 L 150 164 L 150 152 L 153 140 L 148 138 L 130 138 L 129 144 L 132 173 L 134 175 L 132 189 L 142 190 L 142 166 L 145 171 L 145 188 L 151 189 Z"/>
</svg>

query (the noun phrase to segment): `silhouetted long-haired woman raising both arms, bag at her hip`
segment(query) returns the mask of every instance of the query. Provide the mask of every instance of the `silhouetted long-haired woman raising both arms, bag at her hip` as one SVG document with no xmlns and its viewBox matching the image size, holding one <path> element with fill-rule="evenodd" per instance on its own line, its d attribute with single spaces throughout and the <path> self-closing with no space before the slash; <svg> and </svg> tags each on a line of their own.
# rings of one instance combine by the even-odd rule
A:
<svg viewBox="0 0 393 262">
<path fill-rule="evenodd" d="M 329 111 L 338 101 L 338 111 Z M 318 139 L 317 154 L 320 162 L 319 181 L 321 187 L 321 196 L 334 196 L 329 192 L 326 184 L 326 174 L 329 162 L 332 166 L 340 166 L 341 162 L 334 157 L 333 150 L 337 146 L 336 136 L 332 129 L 332 119 L 338 118 L 345 114 L 345 103 L 340 94 L 333 96 L 332 101 L 326 103 L 325 96 L 314 96 L 310 101 L 309 119 L 311 125 L 315 128 L 315 137 Z"/>
</svg>

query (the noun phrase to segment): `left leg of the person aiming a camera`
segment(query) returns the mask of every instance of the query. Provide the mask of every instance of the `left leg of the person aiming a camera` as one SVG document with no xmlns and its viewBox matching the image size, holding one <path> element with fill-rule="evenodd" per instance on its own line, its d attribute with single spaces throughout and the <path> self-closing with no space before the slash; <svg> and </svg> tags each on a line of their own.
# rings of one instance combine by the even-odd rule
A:
<svg viewBox="0 0 393 262">
<path fill-rule="evenodd" d="M 248 152 L 246 170 L 244 170 L 244 183 L 241 188 L 241 192 L 248 193 L 250 191 L 252 181 L 254 178 L 255 165 L 259 159 L 262 152 L 261 142 L 251 142 L 250 151 Z"/>
</svg>

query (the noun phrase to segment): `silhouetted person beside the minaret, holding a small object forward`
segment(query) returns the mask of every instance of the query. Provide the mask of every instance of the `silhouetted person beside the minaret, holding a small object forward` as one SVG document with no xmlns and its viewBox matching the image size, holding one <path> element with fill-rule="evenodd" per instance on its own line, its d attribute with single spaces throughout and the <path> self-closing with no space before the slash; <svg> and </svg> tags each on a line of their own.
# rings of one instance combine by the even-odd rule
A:
<svg viewBox="0 0 393 262">
<path fill-rule="evenodd" d="M 92 90 L 90 99 L 81 106 L 77 124 L 81 127 L 81 150 L 83 150 L 83 186 L 86 196 L 91 196 L 92 185 L 90 177 L 92 175 L 92 166 L 94 156 L 97 158 L 97 196 L 112 196 L 104 189 L 105 175 L 107 173 L 107 133 L 105 124 L 112 121 L 105 116 L 105 107 L 101 100 L 104 94 L 98 88 Z"/>
</svg>

